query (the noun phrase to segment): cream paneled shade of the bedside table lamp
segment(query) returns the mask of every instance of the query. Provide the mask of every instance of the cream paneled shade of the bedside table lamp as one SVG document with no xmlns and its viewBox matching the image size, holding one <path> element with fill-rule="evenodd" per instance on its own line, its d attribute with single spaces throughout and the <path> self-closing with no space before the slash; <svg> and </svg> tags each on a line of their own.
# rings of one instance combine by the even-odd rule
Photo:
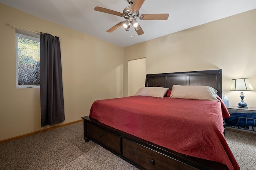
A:
<svg viewBox="0 0 256 170">
<path fill-rule="evenodd" d="M 249 78 L 232 79 L 230 91 L 253 90 Z"/>
</svg>

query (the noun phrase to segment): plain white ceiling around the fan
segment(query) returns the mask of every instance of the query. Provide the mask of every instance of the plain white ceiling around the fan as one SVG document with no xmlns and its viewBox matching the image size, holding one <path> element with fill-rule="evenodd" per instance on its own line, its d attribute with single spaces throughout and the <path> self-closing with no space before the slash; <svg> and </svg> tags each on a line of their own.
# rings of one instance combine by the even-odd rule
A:
<svg viewBox="0 0 256 170">
<path fill-rule="evenodd" d="M 168 13 L 169 18 L 138 20 L 144 31 L 138 36 L 136 31 L 125 31 L 122 26 L 112 33 L 106 32 L 124 18 L 94 11 L 95 6 L 100 6 L 122 13 L 129 6 L 127 0 L 0 0 L 0 3 L 121 47 L 256 9 L 256 0 L 145 0 L 140 14 Z"/>
</svg>

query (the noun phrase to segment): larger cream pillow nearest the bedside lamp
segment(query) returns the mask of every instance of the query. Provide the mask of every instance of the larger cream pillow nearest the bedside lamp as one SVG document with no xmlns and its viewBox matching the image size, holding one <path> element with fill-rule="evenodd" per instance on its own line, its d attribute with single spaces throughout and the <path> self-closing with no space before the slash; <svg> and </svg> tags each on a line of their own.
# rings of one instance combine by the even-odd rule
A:
<svg viewBox="0 0 256 170">
<path fill-rule="evenodd" d="M 217 90 L 209 86 L 173 85 L 169 98 L 220 101 L 217 98 L 217 92 Z"/>
</svg>

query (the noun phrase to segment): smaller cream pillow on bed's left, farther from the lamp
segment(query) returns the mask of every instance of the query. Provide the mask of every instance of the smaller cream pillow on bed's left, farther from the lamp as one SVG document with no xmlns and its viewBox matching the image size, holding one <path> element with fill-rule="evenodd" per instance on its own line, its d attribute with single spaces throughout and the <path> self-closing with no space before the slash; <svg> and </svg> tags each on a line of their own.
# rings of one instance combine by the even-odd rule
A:
<svg viewBox="0 0 256 170">
<path fill-rule="evenodd" d="M 150 96 L 163 98 L 169 88 L 164 87 L 142 87 L 134 96 Z"/>
</svg>

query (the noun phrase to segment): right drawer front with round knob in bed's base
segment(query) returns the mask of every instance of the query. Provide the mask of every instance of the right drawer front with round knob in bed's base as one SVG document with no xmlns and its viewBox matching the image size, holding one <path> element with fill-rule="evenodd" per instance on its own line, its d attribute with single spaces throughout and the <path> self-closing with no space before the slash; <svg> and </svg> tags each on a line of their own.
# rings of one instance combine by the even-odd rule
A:
<svg viewBox="0 0 256 170">
<path fill-rule="evenodd" d="M 123 138 L 123 156 L 148 170 L 196 170 L 187 164 Z"/>
</svg>

